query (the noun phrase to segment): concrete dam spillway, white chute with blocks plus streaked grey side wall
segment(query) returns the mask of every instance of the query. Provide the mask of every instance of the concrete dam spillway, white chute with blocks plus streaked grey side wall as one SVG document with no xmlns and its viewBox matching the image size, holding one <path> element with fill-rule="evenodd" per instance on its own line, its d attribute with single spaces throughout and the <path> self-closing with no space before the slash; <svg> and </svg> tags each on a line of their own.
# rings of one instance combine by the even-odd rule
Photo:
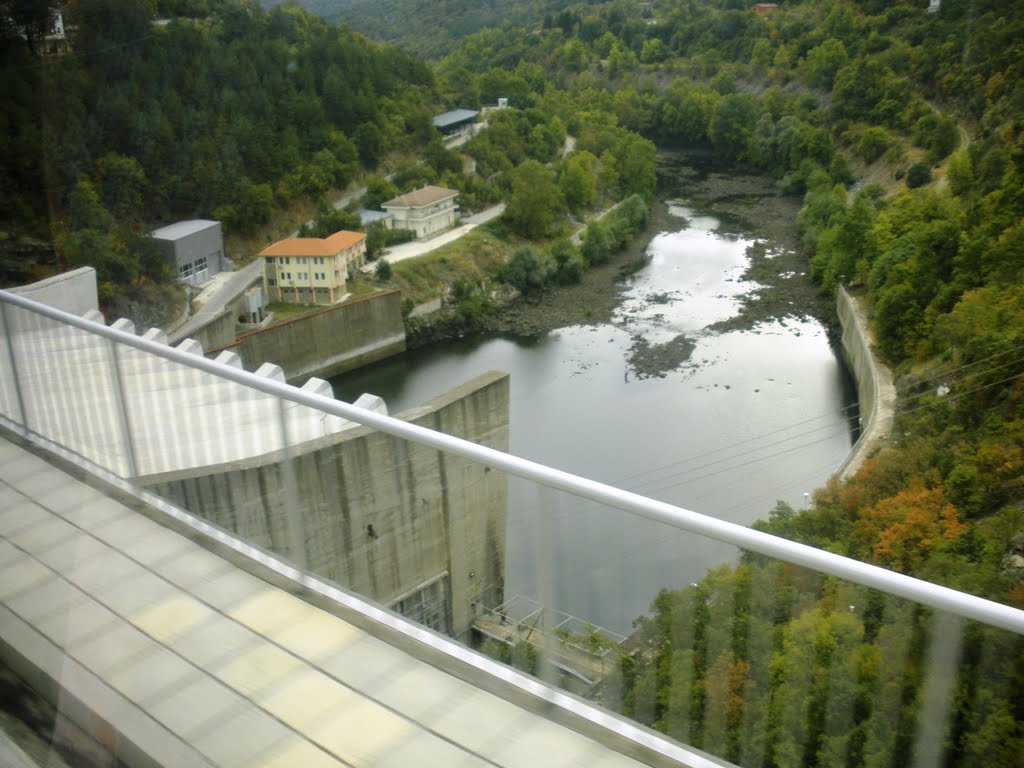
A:
<svg viewBox="0 0 1024 768">
<path fill-rule="evenodd" d="M 83 269 L 28 292 L 102 323 L 95 286 L 94 272 Z M 375 306 L 383 305 L 357 311 L 372 313 Z M 0 413 L 20 412 L 37 433 L 254 546 L 447 634 L 469 630 L 480 595 L 501 598 L 504 473 L 122 348 L 86 330 L 15 312 L 8 327 L 14 344 L 6 351 L 14 365 L 0 370 Z M 127 321 L 112 327 L 134 333 Z M 157 329 L 142 337 L 166 344 Z M 178 349 L 204 358 L 197 341 Z M 217 361 L 242 368 L 232 351 L 221 351 Z M 270 364 L 256 373 L 286 379 Z M 331 394 L 321 379 L 303 388 Z M 386 413 L 372 395 L 355 404 Z M 401 418 L 507 451 L 508 377 L 482 375 Z"/>
</svg>

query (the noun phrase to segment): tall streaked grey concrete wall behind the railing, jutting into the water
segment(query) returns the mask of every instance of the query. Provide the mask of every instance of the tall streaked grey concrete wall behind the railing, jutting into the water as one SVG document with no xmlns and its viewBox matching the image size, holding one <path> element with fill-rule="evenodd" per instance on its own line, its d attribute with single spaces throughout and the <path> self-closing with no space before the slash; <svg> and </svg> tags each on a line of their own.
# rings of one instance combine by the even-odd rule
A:
<svg viewBox="0 0 1024 768">
<path fill-rule="evenodd" d="M 509 378 L 489 373 L 399 418 L 502 451 Z M 507 479 L 503 472 L 356 428 L 243 462 L 151 477 L 145 484 L 247 542 L 290 557 L 290 503 L 313 572 L 384 604 L 446 577 L 454 634 L 468 631 L 474 598 L 503 583 Z M 372 526 L 372 527 L 371 527 Z"/>
</svg>

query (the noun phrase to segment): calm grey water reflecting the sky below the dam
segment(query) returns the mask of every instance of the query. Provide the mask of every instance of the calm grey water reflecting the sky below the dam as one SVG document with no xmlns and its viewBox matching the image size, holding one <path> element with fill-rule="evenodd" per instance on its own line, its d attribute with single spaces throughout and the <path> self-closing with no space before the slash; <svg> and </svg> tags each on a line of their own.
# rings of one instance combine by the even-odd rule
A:
<svg viewBox="0 0 1024 768">
<path fill-rule="evenodd" d="M 767 517 L 776 501 L 802 507 L 852 445 L 846 370 L 813 319 L 712 330 L 757 288 L 743 273 L 759 239 L 684 202 L 670 201 L 670 212 L 611 323 L 415 350 L 335 379 L 336 395 L 373 392 L 397 414 L 504 371 L 517 456 L 742 524 Z M 760 242 L 770 254 L 773 244 Z M 692 352 L 664 376 L 631 365 L 638 343 L 674 342 Z M 543 600 L 624 635 L 658 590 L 737 555 L 524 482 L 509 494 L 506 597 Z"/>
</svg>

